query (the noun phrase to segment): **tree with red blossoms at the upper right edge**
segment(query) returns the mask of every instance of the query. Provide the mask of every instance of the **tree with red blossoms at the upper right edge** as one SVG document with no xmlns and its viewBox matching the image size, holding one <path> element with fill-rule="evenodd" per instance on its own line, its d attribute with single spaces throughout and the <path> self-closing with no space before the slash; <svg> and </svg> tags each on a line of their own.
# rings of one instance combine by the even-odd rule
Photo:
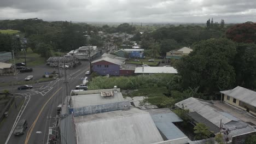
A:
<svg viewBox="0 0 256 144">
<path fill-rule="evenodd" d="M 245 22 L 226 31 L 226 37 L 237 43 L 256 43 L 256 23 Z"/>
</svg>

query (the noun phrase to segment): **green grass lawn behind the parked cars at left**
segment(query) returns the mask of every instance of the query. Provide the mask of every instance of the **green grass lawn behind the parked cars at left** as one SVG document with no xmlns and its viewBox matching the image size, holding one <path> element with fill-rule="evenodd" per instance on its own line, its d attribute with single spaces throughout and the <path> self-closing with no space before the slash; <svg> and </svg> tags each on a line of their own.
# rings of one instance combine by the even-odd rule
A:
<svg viewBox="0 0 256 144">
<path fill-rule="evenodd" d="M 15 63 L 25 62 L 23 52 L 19 53 L 19 57 L 20 58 L 15 59 Z M 26 52 L 26 61 L 27 67 L 42 65 L 45 63 L 45 59 L 43 57 L 40 57 L 40 55 L 38 55 L 37 53 L 33 53 L 33 51 L 30 48 L 28 48 Z"/>
</svg>

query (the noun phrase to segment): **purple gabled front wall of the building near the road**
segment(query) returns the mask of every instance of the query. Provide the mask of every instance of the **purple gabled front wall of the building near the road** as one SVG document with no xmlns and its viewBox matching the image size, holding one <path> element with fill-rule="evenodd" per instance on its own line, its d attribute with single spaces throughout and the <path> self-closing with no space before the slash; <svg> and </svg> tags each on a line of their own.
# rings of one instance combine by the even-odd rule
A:
<svg viewBox="0 0 256 144">
<path fill-rule="evenodd" d="M 108 65 L 108 66 L 107 66 Z M 109 63 L 106 61 L 100 61 L 92 64 L 92 70 L 100 75 L 119 75 L 120 66 L 114 63 Z"/>
</svg>

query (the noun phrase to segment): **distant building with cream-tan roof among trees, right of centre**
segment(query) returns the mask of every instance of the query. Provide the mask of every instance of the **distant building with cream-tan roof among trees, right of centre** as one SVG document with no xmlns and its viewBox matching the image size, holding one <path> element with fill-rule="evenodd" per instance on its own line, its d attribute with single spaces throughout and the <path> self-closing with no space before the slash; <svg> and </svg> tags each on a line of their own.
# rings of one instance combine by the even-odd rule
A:
<svg viewBox="0 0 256 144">
<path fill-rule="evenodd" d="M 178 50 L 172 50 L 166 53 L 166 58 L 179 59 L 182 56 L 187 56 L 191 51 L 193 50 L 188 47 L 183 47 L 182 49 Z"/>
</svg>

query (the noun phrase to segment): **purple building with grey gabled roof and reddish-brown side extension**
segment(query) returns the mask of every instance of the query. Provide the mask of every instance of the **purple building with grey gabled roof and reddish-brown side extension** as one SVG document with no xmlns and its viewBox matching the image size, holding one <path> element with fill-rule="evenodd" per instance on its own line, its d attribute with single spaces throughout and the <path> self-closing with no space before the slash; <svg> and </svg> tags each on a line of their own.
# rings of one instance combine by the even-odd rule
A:
<svg viewBox="0 0 256 144">
<path fill-rule="evenodd" d="M 100 75 L 132 75 L 135 68 L 125 65 L 125 61 L 102 57 L 92 62 L 92 70 Z"/>
</svg>

